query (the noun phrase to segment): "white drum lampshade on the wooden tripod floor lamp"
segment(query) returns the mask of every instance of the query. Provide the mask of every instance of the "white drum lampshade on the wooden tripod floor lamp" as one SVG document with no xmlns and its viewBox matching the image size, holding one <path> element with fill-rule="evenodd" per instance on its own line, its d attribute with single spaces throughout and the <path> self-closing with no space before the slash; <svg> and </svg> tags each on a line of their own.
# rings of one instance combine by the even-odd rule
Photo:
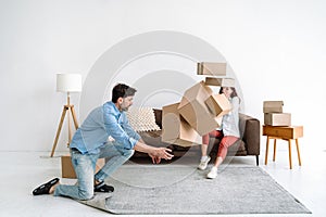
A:
<svg viewBox="0 0 326 217">
<path fill-rule="evenodd" d="M 79 74 L 57 74 L 58 92 L 80 92 L 82 75 Z"/>
</svg>

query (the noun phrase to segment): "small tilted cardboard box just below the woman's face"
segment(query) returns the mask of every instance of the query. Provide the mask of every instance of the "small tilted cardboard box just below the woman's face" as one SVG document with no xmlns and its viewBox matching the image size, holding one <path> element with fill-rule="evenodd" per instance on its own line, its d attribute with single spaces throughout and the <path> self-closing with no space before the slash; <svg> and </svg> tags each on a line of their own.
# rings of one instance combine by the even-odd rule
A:
<svg viewBox="0 0 326 217">
<path fill-rule="evenodd" d="M 205 103 L 214 116 L 221 117 L 233 110 L 233 105 L 225 94 L 213 94 L 205 100 Z"/>
</svg>

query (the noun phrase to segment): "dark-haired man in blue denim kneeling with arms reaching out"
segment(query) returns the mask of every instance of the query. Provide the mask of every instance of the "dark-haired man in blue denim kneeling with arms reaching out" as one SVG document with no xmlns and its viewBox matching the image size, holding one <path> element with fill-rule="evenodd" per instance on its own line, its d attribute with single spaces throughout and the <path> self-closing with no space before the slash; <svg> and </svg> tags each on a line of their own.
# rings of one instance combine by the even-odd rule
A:
<svg viewBox="0 0 326 217">
<path fill-rule="evenodd" d="M 54 178 L 36 188 L 34 195 L 53 193 L 55 196 L 89 200 L 95 191 L 114 191 L 104 180 L 131 157 L 134 150 L 148 153 L 154 164 L 161 158 L 173 157 L 170 149 L 147 145 L 129 126 L 125 111 L 131 106 L 136 91 L 127 85 L 116 85 L 112 90 L 112 101 L 92 110 L 76 130 L 70 148 L 77 184 L 59 184 L 59 178 Z M 103 157 L 106 163 L 95 175 L 97 159 Z"/>
</svg>

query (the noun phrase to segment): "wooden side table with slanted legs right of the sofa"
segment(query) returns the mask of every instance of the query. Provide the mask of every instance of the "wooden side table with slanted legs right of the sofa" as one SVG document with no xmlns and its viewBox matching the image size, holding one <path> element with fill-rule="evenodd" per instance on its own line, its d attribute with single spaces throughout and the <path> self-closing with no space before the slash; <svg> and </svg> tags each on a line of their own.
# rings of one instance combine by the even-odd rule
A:
<svg viewBox="0 0 326 217">
<path fill-rule="evenodd" d="M 299 166 L 301 166 L 299 140 L 298 139 L 303 137 L 303 126 L 278 127 L 278 126 L 264 125 L 263 126 L 263 136 L 267 136 L 266 153 L 265 153 L 265 165 L 267 165 L 269 139 L 274 139 L 273 162 L 275 162 L 275 156 L 276 156 L 276 153 L 275 153 L 276 152 L 276 140 L 277 139 L 283 139 L 283 140 L 287 140 L 288 143 L 289 143 L 290 169 L 292 169 L 291 140 L 296 140 Z"/>
</svg>

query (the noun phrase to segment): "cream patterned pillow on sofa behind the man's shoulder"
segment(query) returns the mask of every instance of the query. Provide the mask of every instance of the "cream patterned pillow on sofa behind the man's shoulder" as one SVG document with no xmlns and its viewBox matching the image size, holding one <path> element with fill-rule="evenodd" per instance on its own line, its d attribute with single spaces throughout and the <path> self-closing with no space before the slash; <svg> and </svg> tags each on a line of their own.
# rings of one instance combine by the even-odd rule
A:
<svg viewBox="0 0 326 217">
<path fill-rule="evenodd" d="M 126 112 L 130 126 L 138 132 L 160 130 L 152 107 L 129 107 Z"/>
</svg>

